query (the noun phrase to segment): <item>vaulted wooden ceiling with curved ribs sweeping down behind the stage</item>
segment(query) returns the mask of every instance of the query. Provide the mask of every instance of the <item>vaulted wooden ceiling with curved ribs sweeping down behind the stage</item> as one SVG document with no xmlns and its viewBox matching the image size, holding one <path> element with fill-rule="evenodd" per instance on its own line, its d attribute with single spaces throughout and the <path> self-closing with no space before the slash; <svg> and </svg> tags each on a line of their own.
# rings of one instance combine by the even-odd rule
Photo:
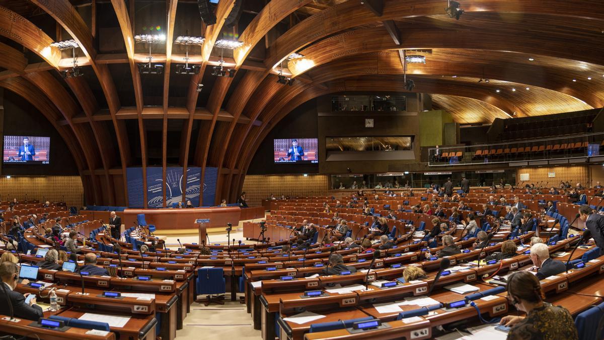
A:
<svg viewBox="0 0 604 340">
<path fill-rule="evenodd" d="M 144 171 L 155 149 L 165 176 L 174 136 L 185 174 L 187 166 L 202 174 L 218 167 L 216 197 L 232 200 L 262 139 L 301 103 L 342 91 L 402 91 L 402 50 L 426 57 L 406 70 L 413 91 L 432 94 L 434 108 L 460 123 L 604 106 L 603 2 L 460 2 L 466 13 L 456 21 L 444 13 L 446 0 L 249 0 L 227 28 L 235 0 L 219 1 L 209 26 L 192 0 L 0 0 L 0 87 L 62 134 L 86 200 L 112 205 L 127 203 L 126 168 Z M 140 74 L 149 47 L 133 36 L 156 26 L 167 39 L 152 46 L 152 60 L 165 72 Z M 179 35 L 205 36 L 188 51 L 199 74 L 173 72 L 185 57 L 173 44 Z M 211 76 L 221 59 L 214 42 L 225 36 L 243 42 L 222 58 L 237 70 L 233 78 Z M 50 43 L 66 39 L 80 45 L 83 77 L 57 76 L 72 58 Z M 294 52 L 304 58 L 287 60 Z M 280 65 L 294 85 L 275 81 Z"/>
</svg>

